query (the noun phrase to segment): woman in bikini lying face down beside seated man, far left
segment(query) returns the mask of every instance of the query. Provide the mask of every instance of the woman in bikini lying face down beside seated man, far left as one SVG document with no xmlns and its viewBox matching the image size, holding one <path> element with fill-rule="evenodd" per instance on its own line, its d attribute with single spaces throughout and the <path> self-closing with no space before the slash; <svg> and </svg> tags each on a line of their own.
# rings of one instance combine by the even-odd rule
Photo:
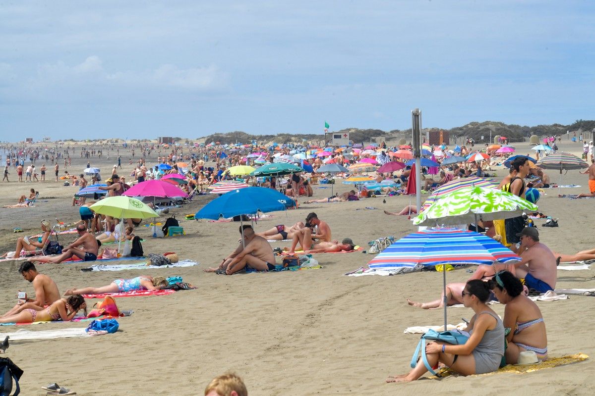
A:
<svg viewBox="0 0 595 396">
<path fill-rule="evenodd" d="M 74 318 L 80 309 L 86 309 L 87 303 L 83 296 L 73 294 L 55 301 L 52 305 L 41 308 L 39 311 L 32 308 L 23 309 L 16 315 L 6 316 L 0 319 L 0 323 L 33 323 L 59 321 L 68 322 Z"/>
</svg>

